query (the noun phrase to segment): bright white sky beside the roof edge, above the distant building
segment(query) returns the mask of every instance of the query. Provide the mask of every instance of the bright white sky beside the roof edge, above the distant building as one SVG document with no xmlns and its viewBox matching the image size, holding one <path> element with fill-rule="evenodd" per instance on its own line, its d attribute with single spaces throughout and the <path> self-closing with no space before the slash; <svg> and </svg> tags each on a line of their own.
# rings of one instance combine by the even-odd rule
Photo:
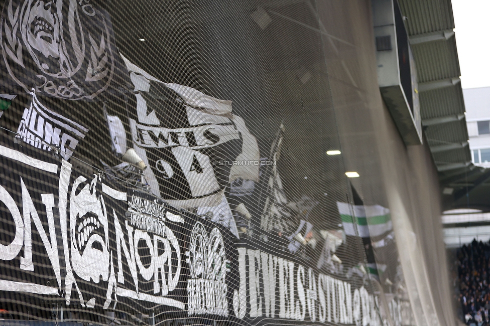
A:
<svg viewBox="0 0 490 326">
<path fill-rule="evenodd" d="M 490 0 L 452 0 L 462 88 L 490 86 Z"/>
</svg>

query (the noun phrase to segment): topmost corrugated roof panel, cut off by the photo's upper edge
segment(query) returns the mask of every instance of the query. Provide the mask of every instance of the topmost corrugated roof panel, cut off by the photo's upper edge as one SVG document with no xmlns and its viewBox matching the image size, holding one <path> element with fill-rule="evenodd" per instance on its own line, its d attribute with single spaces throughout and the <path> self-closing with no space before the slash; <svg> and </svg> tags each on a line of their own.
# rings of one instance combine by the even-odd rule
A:
<svg viewBox="0 0 490 326">
<path fill-rule="evenodd" d="M 451 0 L 400 0 L 410 36 L 454 28 Z"/>
</svg>

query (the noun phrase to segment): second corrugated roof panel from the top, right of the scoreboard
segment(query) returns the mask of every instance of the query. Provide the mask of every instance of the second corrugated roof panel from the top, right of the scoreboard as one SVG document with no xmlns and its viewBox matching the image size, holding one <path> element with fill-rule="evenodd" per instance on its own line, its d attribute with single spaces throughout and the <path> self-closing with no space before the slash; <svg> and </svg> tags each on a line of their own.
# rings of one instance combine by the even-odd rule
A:
<svg viewBox="0 0 490 326">
<path fill-rule="evenodd" d="M 426 42 L 412 46 L 417 65 L 418 82 L 459 77 L 456 39 Z"/>
</svg>

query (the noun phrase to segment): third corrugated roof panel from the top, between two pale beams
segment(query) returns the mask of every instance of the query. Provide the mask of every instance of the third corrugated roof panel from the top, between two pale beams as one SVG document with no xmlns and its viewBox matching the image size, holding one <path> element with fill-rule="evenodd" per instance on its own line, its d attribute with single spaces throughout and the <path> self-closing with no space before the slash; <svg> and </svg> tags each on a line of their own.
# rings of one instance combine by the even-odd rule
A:
<svg viewBox="0 0 490 326">
<path fill-rule="evenodd" d="M 419 100 L 422 119 L 464 113 L 463 92 L 460 84 L 420 92 Z"/>
</svg>

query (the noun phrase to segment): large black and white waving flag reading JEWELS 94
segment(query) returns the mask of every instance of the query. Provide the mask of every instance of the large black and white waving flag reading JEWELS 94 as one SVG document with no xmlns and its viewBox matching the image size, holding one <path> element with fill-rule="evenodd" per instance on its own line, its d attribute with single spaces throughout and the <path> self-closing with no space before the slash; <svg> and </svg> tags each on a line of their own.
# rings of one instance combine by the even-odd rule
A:
<svg viewBox="0 0 490 326">
<path fill-rule="evenodd" d="M 215 207 L 230 182 L 258 181 L 259 166 L 245 164 L 259 160 L 257 140 L 232 113 L 231 101 L 163 83 L 123 59 L 136 93 L 126 123 L 129 143 L 148 167 L 144 181 L 153 194 L 177 207 Z M 111 134 L 119 135 L 113 137 L 114 148 L 122 154 L 128 141 L 121 119 L 126 117 L 108 121 Z M 229 208 L 223 215 L 231 215 Z"/>
</svg>

